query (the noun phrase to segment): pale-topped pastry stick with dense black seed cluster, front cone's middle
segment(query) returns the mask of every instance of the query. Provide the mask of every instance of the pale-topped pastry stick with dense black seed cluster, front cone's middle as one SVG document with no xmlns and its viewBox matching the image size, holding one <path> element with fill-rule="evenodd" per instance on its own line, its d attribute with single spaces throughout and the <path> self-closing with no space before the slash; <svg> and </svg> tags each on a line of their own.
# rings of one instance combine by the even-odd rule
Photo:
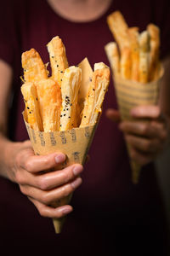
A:
<svg viewBox="0 0 170 256">
<path fill-rule="evenodd" d="M 65 69 L 61 84 L 62 108 L 59 131 L 66 131 L 75 126 L 78 90 L 81 79 L 82 69 L 80 67 L 71 66 Z"/>
</svg>

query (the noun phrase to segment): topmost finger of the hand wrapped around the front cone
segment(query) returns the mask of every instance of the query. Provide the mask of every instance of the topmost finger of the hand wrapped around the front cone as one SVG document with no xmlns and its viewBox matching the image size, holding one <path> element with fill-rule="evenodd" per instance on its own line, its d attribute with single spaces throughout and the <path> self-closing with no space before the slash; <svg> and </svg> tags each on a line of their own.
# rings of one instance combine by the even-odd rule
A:
<svg viewBox="0 0 170 256">
<path fill-rule="evenodd" d="M 16 159 L 17 167 L 25 169 L 27 172 L 41 172 L 59 166 L 65 161 L 65 154 L 54 153 L 47 155 L 35 155 L 31 148 L 23 150 Z"/>
</svg>

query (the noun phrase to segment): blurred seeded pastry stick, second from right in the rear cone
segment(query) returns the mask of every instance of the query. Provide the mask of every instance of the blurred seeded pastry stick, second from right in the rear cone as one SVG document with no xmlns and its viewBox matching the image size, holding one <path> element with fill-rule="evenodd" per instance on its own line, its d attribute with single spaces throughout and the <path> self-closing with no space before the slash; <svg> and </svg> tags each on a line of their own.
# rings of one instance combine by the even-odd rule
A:
<svg viewBox="0 0 170 256">
<path fill-rule="evenodd" d="M 139 36 L 139 82 L 147 83 L 149 78 L 149 32 L 144 31 Z"/>
</svg>

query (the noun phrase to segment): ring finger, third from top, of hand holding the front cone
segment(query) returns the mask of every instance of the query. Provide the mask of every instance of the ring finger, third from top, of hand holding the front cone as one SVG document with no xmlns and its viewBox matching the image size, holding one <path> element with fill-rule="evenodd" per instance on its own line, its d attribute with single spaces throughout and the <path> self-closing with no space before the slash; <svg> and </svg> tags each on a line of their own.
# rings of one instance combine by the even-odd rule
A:
<svg viewBox="0 0 170 256">
<path fill-rule="evenodd" d="M 48 191 L 27 185 L 20 185 L 20 190 L 24 195 L 27 195 L 34 200 L 39 201 L 44 205 L 50 205 L 70 195 L 75 189 L 77 189 L 77 187 L 80 186 L 81 183 L 82 178 L 77 177 L 70 183 L 66 183 L 63 186 Z"/>
</svg>

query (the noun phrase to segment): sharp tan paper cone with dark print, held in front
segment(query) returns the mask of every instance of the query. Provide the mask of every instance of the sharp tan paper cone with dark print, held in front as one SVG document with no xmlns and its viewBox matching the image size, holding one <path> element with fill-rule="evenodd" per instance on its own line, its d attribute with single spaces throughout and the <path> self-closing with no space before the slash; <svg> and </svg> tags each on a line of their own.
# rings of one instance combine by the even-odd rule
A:
<svg viewBox="0 0 170 256">
<path fill-rule="evenodd" d="M 31 126 L 26 122 L 25 113 L 23 113 L 23 117 L 35 154 L 50 154 L 57 151 L 66 154 L 66 161 L 61 166 L 61 169 L 74 163 L 84 164 L 97 124 L 83 128 L 73 128 L 67 131 L 43 132 L 32 130 Z M 71 195 L 56 201 L 52 207 L 64 206 L 69 204 L 70 201 Z M 53 222 L 55 232 L 60 233 L 65 217 L 54 218 Z"/>
</svg>

